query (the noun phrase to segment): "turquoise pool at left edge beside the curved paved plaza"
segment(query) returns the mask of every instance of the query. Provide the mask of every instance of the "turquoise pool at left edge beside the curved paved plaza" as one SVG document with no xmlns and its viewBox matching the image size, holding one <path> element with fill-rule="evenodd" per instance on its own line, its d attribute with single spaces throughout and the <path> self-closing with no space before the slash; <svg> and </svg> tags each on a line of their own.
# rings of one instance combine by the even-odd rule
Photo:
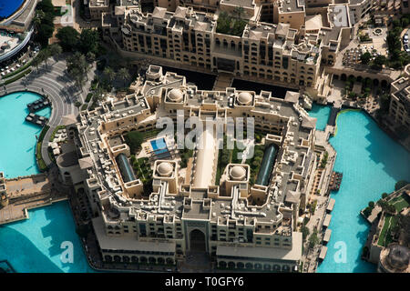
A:
<svg viewBox="0 0 410 291">
<path fill-rule="evenodd" d="M 0 171 L 5 177 L 38 174 L 36 164 L 36 135 L 42 127 L 26 122 L 29 111 L 27 104 L 39 99 L 31 92 L 17 92 L 0 97 Z M 49 117 L 51 109 L 46 107 L 37 115 Z"/>
</svg>

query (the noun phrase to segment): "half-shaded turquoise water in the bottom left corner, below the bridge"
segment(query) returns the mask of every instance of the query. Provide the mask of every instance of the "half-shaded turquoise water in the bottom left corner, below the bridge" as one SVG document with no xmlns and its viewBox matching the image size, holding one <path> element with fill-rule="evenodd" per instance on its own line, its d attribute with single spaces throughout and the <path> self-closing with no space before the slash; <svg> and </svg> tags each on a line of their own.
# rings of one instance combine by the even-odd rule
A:
<svg viewBox="0 0 410 291">
<path fill-rule="evenodd" d="M 29 211 L 29 219 L 0 226 L 0 260 L 21 273 L 87 273 L 88 266 L 67 201 Z M 73 263 L 60 256 L 71 242 Z M 65 256 L 66 257 L 66 256 Z"/>
</svg>

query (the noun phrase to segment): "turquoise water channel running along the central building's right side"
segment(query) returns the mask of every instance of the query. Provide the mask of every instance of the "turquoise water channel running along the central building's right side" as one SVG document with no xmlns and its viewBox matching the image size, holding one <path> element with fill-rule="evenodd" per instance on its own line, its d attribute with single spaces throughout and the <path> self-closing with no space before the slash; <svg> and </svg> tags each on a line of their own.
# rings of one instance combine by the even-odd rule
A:
<svg viewBox="0 0 410 291">
<path fill-rule="evenodd" d="M 392 192 L 398 180 L 410 180 L 410 154 L 360 111 L 339 115 L 330 143 L 337 152 L 334 170 L 343 172 L 343 181 L 331 195 L 336 201 L 329 226 L 332 236 L 318 272 L 375 272 L 375 265 L 360 259 L 369 225 L 359 212 L 382 193 Z M 345 262 L 340 256 L 343 246 Z"/>
</svg>

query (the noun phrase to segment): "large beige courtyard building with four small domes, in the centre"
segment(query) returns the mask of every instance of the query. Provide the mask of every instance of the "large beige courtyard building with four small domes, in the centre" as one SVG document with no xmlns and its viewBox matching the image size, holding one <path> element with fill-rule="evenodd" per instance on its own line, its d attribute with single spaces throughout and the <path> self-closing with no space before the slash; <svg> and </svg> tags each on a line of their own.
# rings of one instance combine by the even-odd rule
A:
<svg viewBox="0 0 410 291">
<path fill-rule="evenodd" d="M 195 250 L 220 268 L 298 270 L 302 233 L 296 225 L 316 168 L 316 120 L 299 105 L 300 95 L 288 92 L 279 99 L 264 91 L 202 91 L 184 76 L 162 74 L 156 65 L 149 66 L 142 85 L 131 89 L 134 94 L 83 111 L 79 122 L 67 127 L 83 175 L 73 184 L 87 193 L 104 260 L 173 265 Z M 188 116 L 200 123 L 213 118 L 213 129 L 215 122 L 226 126 L 229 118 L 253 117 L 254 130 L 264 136 L 265 166 L 259 175 L 265 174 L 251 183 L 251 167 L 242 159 L 221 168 L 216 183 L 218 139 L 206 127 L 186 167 L 174 134 L 147 141 L 167 145 L 161 154 L 150 146 L 141 151 L 152 171 L 147 190 L 144 177 L 131 166 L 134 153 L 123 136 L 151 131 L 162 116 L 177 124 Z M 202 142 L 208 146 L 198 146 Z"/>
</svg>

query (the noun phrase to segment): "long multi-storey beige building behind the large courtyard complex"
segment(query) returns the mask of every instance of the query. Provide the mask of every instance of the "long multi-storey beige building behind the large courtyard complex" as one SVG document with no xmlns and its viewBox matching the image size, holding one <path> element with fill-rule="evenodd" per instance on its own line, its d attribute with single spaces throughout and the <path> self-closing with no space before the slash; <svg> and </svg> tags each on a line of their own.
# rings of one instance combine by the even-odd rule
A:
<svg viewBox="0 0 410 291">
<path fill-rule="evenodd" d="M 175 64 L 197 66 L 210 72 L 251 75 L 264 82 L 291 87 L 315 85 L 321 52 L 304 41 L 296 42 L 290 25 L 256 23 L 241 36 L 216 32 L 218 15 L 178 7 L 176 12 L 156 7 L 152 14 L 138 8 L 122 9 L 116 19 L 104 21 L 106 39 L 136 57 L 152 55 Z M 119 23 L 123 23 L 118 29 Z"/>
</svg>

